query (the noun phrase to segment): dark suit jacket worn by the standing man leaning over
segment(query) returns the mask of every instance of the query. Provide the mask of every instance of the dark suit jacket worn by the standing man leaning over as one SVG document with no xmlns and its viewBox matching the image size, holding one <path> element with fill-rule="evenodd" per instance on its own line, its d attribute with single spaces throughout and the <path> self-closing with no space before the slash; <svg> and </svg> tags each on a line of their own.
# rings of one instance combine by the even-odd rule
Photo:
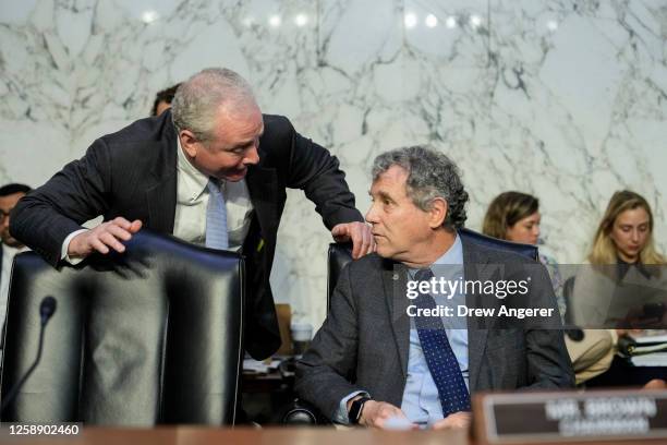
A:
<svg viewBox="0 0 667 445">
<path fill-rule="evenodd" d="M 245 347 L 256 359 L 280 346 L 269 274 L 286 188 L 304 190 L 329 229 L 363 220 L 336 157 L 296 133 L 284 117 L 265 115 L 264 124 L 259 164 L 246 176 L 255 211 L 242 248 Z M 95 141 L 83 158 L 21 200 L 11 216 L 11 232 L 57 266 L 64 239 L 84 221 L 122 216 L 172 233 L 175 203 L 177 133 L 171 113 L 165 112 Z"/>
</svg>

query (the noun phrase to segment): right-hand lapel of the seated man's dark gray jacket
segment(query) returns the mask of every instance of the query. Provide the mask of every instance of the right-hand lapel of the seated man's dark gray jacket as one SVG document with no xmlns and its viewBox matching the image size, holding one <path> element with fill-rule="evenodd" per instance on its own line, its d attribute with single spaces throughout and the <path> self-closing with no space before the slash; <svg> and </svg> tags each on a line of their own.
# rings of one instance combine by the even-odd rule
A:
<svg viewBox="0 0 667 445">
<path fill-rule="evenodd" d="M 480 280 L 482 282 L 489 280 L 497 273 L 497 266 L 488 264 L 488 257 L 480 253 L 477 245 L 469 241 L 464 236 L 461 236 L 463 244 L 463 274 L 466 281 Z M 480 299 L 484 296 L 474 293 L 465 294 L 465 305 L 468 308 L 482 308 Z M 486 349 L 486 339 L 488 328 L 486 326 L 474 326 L 474 323 L 469 317 L 468 320 L 468 369 L 470 375 L 470 390 L 476 390 L 477 378 L 480 377 L 480 366 L 482 365 L 482 357 Z"/>
</svg>

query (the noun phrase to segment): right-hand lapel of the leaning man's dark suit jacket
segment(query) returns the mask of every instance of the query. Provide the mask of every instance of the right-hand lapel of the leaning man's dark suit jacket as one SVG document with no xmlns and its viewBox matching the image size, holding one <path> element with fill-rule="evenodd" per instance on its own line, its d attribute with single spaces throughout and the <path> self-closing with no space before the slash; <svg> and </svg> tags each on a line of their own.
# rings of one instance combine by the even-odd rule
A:
<svg viewBox="0 0 667 445">
<path fill-rule="evenodd" d="M 277 231 L 276 185 L 278 178 L 275 169 L 250 167 L 245 177 L 251 202 L 255 208 L 263 237 L 272 237 Z"/>
</svg>

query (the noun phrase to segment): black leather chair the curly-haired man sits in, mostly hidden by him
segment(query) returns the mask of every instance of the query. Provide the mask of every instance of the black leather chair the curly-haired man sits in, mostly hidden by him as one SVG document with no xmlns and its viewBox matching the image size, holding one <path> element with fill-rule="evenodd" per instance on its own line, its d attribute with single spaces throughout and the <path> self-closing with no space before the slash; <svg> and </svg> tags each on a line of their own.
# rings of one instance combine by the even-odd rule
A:
<svg viewBox="0 0 667 445">
<path fill-rule="evenodd" d="M 461 237 L 469 241 L 483 244 L 493 249 L 509 250 L 531 260 L 537 261 L 537 248 L 531 244 L 521 244 L 517 242 L 499 240 L 497 238 L 487 237 L 470 229 L 460 229 Z M 342 268 L 352 261 L 352 244 L 351 243 L 331 243 L 327 256 L 327 309 L 330 308 L 331 296 Z M 290 425 L 304 424 L 323 424 L 328 423 L 326 418 L 319 413 L 315 407 L 305 400 L 295 400 L 294 404 L 286 410 L 282 418 L 283 423 Z"/>
</svg>

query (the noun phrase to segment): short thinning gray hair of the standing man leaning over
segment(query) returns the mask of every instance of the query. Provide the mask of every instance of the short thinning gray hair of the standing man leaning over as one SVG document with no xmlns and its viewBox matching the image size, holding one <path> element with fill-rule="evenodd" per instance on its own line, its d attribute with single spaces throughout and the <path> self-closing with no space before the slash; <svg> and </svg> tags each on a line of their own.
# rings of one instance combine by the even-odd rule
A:
<svg viewBox="0 0 667 445">
<path fill-rule="evenodd" d="M 207 68 L 183 82 L 171 103 L 177 131 L 190 130 L 199 141 L 213 139 L 216 111 L 222 105 L 256 104 L 248 83 L 226 68 Z"/>
</svg>

